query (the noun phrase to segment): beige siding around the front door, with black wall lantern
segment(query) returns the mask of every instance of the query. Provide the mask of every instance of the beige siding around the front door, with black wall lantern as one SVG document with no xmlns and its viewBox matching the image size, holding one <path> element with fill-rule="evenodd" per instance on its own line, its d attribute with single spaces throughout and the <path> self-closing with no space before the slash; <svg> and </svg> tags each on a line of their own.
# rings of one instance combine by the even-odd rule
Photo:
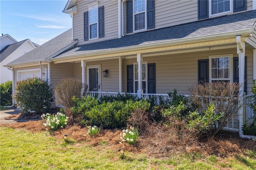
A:
<svg viewBox="0 0 256 170">
<path fill-rule="evenodd" d="M 119 59 L 109 59 L 102 61 L 86 61 L 86 80 L 87 67 L 93 65 L 101 66 L 101 91 L 119 92 Z M 103 77 L 102 71 L 108 69 L 108 77 Z"/>
</svg>

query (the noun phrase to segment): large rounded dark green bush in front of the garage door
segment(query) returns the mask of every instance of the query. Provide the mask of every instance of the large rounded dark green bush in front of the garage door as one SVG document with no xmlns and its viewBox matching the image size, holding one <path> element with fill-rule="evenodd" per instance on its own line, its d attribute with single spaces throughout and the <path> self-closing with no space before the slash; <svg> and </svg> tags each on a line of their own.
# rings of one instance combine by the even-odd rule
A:
<svg viewBox="0 0 256 170">
<path fill-rule="evenodd" d="M 53 101 L 53 91 L 47 81 L 33 77 L 17 82 L 14 97 L 25 114 L 29 110 L 48 113 Z"/>
</svg>

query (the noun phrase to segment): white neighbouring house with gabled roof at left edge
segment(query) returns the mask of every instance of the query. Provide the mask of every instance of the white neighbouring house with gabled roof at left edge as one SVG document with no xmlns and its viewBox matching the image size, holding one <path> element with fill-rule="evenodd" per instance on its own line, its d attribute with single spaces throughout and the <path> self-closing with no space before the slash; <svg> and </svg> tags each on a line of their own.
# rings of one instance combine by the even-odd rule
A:
<svg viewBox="0 0 256 170">
<path fill-rule="evenodd" d="M 39 45 L 32 43 L 29 39 L 17 42 L 9 34 L 0 37 L 0 83 L 12 80 L 12 71 L 4 67 L 14 59 L 24 55 L 28 51 L 35 49 Z"/>
</svg>

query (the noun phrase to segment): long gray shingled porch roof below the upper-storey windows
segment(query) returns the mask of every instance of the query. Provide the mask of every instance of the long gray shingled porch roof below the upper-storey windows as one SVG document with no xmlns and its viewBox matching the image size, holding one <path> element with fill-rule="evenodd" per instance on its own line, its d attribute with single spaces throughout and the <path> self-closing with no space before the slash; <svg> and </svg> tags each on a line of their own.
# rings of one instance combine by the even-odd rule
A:
<svg viewBox="0 0 256 170">
<path fill-rule="evenodd" d="M 80 55 L 92 52 L 118 49 L 120 47 L 138 47 L 142 44 L 164 42 L 166 40 L 177 40 L 181 38 L 194 38 L 209 36 L 214 34 L 229 33 L 241 30 L 252 29 L 256 22 L 256 10 L 210 18 L 188 24 L 181 24 L 168 28 L 152 30 L 132 34 L 119 39 L 106 40 L 102 42 L 90 43 L 75 46 L 61 53 L 54 58 L 68 57 L 70 55 Z"/>
</svg>

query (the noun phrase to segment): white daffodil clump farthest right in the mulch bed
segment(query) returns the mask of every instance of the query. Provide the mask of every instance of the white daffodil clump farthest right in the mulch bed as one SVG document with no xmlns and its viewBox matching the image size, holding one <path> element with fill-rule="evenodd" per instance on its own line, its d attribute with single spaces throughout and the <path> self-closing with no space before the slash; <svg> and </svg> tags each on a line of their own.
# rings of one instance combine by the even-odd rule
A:
<svg viewBox="0 0 256 170">
<path fill-rule="evenodd" d="M 138 136 L 140 135 L 138 129 L 134 129 L 134 127 L 130 127 L 130 129 L 122 130 L 120 133 L 120 139 L 123 142 L 127 142 L 128 144 L 135 144 L 137 142 Z"/>
</svg>

